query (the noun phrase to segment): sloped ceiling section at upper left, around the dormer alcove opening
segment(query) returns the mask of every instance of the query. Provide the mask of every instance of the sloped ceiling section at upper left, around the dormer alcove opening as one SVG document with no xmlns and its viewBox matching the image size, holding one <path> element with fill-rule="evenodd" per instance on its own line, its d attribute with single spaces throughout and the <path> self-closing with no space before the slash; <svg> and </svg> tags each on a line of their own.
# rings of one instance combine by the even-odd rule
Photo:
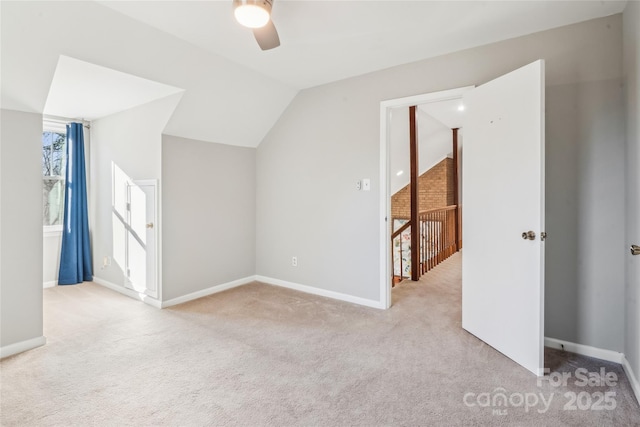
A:
<svg viewBox="0 0 640 427">
<path fill-rule="evenodd" d="M 42 113 L 64 55 L 184 89 L 166 134 L 255 147 L 297 93 L 95 2 L 0 7 L 2 108 Z"/>
</svg>

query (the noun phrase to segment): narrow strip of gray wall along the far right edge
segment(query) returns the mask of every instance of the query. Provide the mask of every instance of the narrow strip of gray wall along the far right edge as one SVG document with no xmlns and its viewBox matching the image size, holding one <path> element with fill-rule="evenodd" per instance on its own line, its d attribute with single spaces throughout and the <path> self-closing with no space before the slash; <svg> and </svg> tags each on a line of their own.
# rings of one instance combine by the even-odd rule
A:
<svg viewBox="0 0 640 427">
<path fill-rule="evenodd" d="M 627 4 L 623 16 L 627 104 L 627 245 L 640 245 L 640 3 Z M 640 256 L 626 253 L 626 345 L 624 353 L 640 378 Z"/>
</svg>

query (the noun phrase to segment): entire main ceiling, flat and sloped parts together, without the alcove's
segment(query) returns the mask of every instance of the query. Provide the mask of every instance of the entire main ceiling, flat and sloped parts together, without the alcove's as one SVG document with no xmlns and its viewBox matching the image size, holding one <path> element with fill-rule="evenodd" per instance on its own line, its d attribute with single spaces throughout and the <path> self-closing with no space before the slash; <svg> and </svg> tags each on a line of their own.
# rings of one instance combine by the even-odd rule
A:
<svg viewBox="0 0 640 427">
<path fill-rule="evenodd" d="M 275 0 L 282 45 L 263 52 L 234 21 L 231 0 L 3 0 L 0 106 L 42 113 L 63 55 L 184 90 L 165 133 L 255 147 L 301 89 L 619 13 L 625 3 Z"/>
</svg>

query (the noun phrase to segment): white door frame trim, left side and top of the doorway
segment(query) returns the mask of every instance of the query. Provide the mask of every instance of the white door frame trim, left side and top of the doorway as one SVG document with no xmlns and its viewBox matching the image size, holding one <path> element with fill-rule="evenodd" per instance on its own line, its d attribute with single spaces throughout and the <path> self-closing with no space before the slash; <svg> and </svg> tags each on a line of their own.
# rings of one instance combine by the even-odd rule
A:
<svg viewBox="0 0 640 427">
<path fill-rule="evenodd" d="M 393 108 L 410 107 L 412 105 L 429 104 L 439 101 L 462 99 L 462 95 L 475 86 L 464 86 L 456 89 L 404 98 L 390 99 L 380 102 L 380 308 L 391 307 L 391 194 L 390 194 L 390 157 L 391 110 Z"/>
</svg>

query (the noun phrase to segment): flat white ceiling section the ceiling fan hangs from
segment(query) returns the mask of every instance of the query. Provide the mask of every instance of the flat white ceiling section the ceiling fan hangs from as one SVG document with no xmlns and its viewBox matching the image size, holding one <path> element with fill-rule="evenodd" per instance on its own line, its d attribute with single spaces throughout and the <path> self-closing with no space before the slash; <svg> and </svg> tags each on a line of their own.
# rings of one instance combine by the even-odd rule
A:
<svg viewBox="0 0 640 427">
<path fill-rule="evenodd" d="M 232 0 L 100 3 L 301 89 L 612 15 L 626 1 L 275 0 L 282 44 L 265 52 Z"/>
</svg>

